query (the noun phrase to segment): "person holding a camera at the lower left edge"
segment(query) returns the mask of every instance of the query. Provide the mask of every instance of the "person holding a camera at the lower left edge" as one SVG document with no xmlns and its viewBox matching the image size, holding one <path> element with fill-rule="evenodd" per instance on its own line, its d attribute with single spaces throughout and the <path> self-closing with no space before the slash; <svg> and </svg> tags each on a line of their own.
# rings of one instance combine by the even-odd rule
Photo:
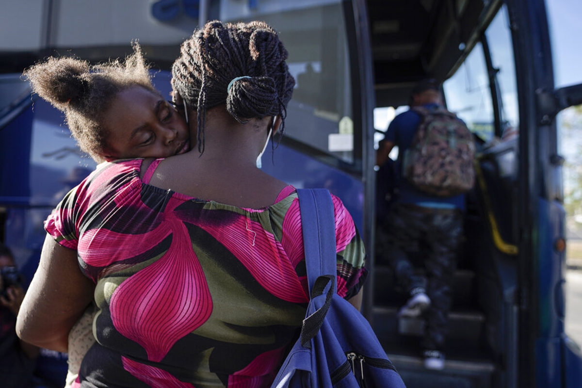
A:
<svg viewBox="0 0 582 388">
<path fill-rule="evenodd" d="M 28 387 L 39 348 L 16 336 L 16 316 L 24 299 L 22 275 L 12 251 L 0 243 L 0 379 L 2 387 Z"/>
</svg>

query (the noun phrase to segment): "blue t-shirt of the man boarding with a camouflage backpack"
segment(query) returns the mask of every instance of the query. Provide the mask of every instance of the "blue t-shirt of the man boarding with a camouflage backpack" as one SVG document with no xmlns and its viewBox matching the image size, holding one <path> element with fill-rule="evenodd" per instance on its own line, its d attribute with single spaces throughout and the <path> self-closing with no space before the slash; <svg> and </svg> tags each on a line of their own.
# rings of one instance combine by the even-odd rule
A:
<svg viewBox="0 0 582 388">
<path fill-rule="evenodd" d="M 437 104 L 426 104 L 426 108 L 433 108 Z M 431 197 L 417 190 L 406 180 L 402 179 L 402 161 L 404 154 L 414 137 L 414 133 L 420 124 L 420 115 L 414 111 L 406 111 L 396 116 L 388 126 L 385 139 L 398 146 L 398 160 L 396 161 L 396 172 L 398 173 L 399 195 L 396 201 L 405 204 L 415 204 L 431 208 L 458 208 L 464 211 L 465 195 L 459 194 L 454 197 Z"/>
</svg>

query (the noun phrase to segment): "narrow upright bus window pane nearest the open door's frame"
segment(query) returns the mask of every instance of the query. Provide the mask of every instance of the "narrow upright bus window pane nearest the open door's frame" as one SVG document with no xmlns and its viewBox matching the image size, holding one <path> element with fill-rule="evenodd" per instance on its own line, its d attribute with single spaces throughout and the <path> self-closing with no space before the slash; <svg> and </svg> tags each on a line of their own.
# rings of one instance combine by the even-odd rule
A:
<svg viewBox="0 0 582 388">
<path fill-rule="evenodd" d="M 509 16 L 505 6 L 495 16 L 485 31 L 485 36 L 491 52 L 492 65 L 497 70 L 496 83 L 501 115 L 501 133 L 499 134 L 504 138 L 509 138 L 514 136 L 519 129 L 519 110 L 513 44 L 509 30 Z"/>
</svg>

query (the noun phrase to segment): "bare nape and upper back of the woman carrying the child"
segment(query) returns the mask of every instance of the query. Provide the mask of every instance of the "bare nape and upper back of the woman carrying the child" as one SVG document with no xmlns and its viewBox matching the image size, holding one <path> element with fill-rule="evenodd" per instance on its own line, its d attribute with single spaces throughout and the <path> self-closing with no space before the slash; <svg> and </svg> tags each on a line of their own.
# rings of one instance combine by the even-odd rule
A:
<svg viewBox="0 0 582 388">
<path fill-rule="evenodd" d="M 269 119 L 241 124 L 226 110 L 209 110 L 204 145 L 200 147 L 203 152 L 194 146 L 186 154 L 165 159 L 150 183 L 237 207 L 258 209 L 272 205 L 286 184 L 256 166 L 267 140 Z"/>
</svg>

